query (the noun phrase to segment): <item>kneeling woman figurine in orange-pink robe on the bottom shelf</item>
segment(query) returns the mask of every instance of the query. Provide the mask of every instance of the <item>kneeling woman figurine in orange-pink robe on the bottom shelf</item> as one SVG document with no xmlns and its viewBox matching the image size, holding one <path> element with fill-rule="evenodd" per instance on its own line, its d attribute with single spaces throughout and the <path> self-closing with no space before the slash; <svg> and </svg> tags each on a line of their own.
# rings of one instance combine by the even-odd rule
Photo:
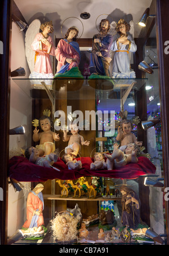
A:
<svg viewBox="0 0 169 256">
<path fill-rule="evenodd" d="M 42 190 L 44 186 L 39 183 L 35 188 L 29 192 L 26 204 L 26 221 L 23 225 L 24 228 L 33 228 L 44 226 L 43 220 L 43 195 Z"/>
</svg>

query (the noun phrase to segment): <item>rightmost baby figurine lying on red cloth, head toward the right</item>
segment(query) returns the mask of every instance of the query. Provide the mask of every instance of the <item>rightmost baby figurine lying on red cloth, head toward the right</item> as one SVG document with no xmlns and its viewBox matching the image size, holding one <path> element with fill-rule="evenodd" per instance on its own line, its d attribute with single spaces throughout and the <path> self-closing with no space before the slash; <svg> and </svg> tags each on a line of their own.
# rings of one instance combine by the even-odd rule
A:
<svg viewBox="0 0 169 256">
<path fill-rule="evenodd" d="M 134 143 L 128 144 L 124 153 L 118 148 L 119 145 L 117 143 L 115 143 L 113 147 L 112 155 L 104 153 L 104 156 L 107 158 L 106 164 L 108 166 L 108 170 L 112 170 L 113 165 L 116 169 L 119 169 L 124 165 L 136 163 L 138 161 L 137 153 L 139 153 L 139 147 Z"/>
</svg>

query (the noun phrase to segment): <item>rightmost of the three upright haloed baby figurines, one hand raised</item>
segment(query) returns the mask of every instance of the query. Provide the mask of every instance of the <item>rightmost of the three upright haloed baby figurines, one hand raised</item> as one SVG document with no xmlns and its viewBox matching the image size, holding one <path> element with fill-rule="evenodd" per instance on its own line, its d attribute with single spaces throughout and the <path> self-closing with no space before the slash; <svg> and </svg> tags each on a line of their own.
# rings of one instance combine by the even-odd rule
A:
<svg viewBox="0 0 169 256">
<path fill-rule="evenodd" d="M 126 145 L 129 143 L 135 143 L 136 145 L 141 146 L 143 142 L 137 142 L 136 136 L 131 133 L 133 129 L 132 122 L 130 120 L 123 120 L 121 122 L 121 127 L 118 127 L 118 135 L 116 140 L 121 142 L 121 151 L 124 152 Z"/>
</svg>

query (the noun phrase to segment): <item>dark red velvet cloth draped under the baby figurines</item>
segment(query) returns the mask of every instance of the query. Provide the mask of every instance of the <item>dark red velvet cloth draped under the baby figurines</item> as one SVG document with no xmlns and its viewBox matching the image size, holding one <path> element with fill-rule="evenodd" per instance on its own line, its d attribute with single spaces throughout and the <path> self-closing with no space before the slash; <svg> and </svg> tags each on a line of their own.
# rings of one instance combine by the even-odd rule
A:
<svg viewBox="0 0 169 256">
<path fill-rule="evenodd" d="M 8 176 L 16 179 L 18 182 L 45 182 L 48 179 L 73 180 L 81 176 L 136 179 L 140 175 L 155 173 L 156 168 L 148 158 L 139 157 L 138 159 L 139 161 L 136 164 L 127 164 L 119 170 L 90 170 L 90 164 L 92 162 L 90 157 L 77 158 L 77 160 L 81 160 L 82 162 L 82 169 L 68 170 L 64 162 L 58 159 L 53 165 L 60 170 L 56 171 L 52 168 L 32 164 L 25 157 L 14 156 L 9 162 Z"/>
</svg>

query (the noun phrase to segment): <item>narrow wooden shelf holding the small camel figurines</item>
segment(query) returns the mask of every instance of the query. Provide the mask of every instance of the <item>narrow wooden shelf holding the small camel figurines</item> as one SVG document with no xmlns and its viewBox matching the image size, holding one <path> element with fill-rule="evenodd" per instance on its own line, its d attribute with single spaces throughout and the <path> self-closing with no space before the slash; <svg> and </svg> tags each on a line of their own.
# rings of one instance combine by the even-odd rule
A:
<svg viewBox="0 0 169 256">
<path fill-rule="evenodd" d="M 60 195 L 43 195 L 43 199 L 44 200 L 70 200 L 70 201 L 109 201 L 109 200 L 121 200 L 121 197 L 115 197 L 115 196 L 111 196 L 111 197 L 60 197 Z"/>
</svg>

